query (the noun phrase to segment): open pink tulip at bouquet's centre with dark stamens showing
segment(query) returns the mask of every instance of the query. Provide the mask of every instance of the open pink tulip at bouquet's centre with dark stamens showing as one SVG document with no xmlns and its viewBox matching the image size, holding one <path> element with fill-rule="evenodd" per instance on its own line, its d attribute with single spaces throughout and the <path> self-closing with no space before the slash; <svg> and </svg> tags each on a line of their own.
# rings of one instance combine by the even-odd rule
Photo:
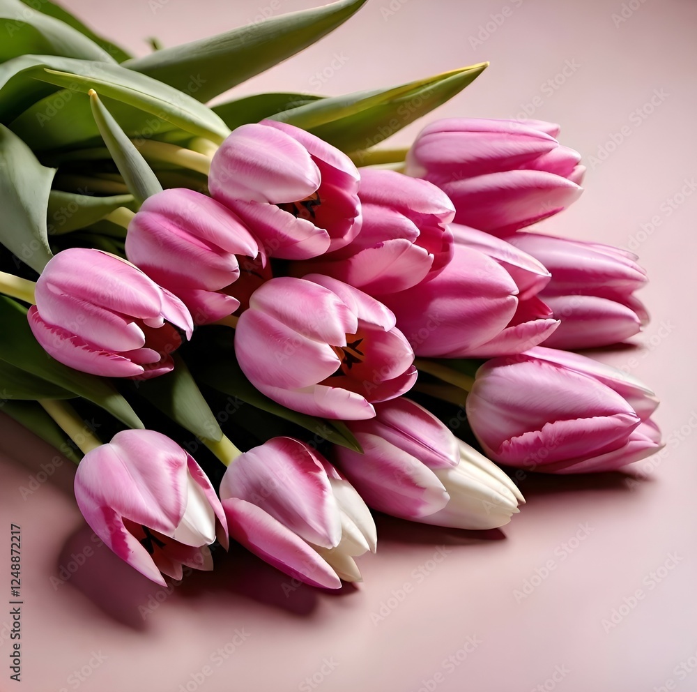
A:
<svg viewBox="0 0 697 692">
<path fill-rule="evenodd" d="M 382 303 L 341 281 L 309 274 L 267 281 L 235 331 L 240 367 L 278 403 L 332 419 L 374 416 L 416 379 L 414 354 Z"/>
</svg>

